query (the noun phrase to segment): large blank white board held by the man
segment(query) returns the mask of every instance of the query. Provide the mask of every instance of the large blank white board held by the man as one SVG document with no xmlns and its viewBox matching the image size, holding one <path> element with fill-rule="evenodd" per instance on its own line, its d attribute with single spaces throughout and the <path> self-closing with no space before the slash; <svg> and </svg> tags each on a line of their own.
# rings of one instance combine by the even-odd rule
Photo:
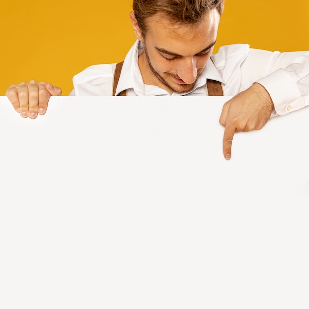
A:
<svg viewBox="0 0 309 309">
<path fill-rule="evenodd" d="M 309 109 L 228 99 L 0 97 L 0 308 L 308 308 Z"/>
</svg>

